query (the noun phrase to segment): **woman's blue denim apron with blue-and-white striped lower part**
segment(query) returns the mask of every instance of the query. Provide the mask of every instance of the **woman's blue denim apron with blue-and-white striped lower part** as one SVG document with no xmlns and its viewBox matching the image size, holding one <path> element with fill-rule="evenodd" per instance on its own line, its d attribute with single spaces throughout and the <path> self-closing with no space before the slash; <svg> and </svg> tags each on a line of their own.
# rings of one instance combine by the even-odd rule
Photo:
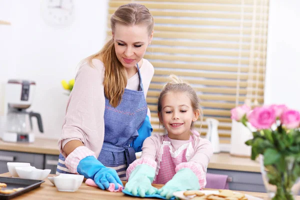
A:
<svg viewBox="0 0 300 200">
<path fill-rule="evenodd" d="M 138 136 L 137 129 L 142 125 L 147 114 L 147 103 L 138 66 L 137 72 L 138 90 L 125 88 L 118 106 L 111 106 L 105 97 L 104 142 L 98 160 L 104 166 L 116 169 L 120 178 L 126 176 L 124 171 L 136 159 L 134 148 L 130 143 Z M 58 160 L 60 167 L 57 167 L 56 173 L 69 173 L 64 165 L 64 159 L 60 154 Z"/>
</svg>

